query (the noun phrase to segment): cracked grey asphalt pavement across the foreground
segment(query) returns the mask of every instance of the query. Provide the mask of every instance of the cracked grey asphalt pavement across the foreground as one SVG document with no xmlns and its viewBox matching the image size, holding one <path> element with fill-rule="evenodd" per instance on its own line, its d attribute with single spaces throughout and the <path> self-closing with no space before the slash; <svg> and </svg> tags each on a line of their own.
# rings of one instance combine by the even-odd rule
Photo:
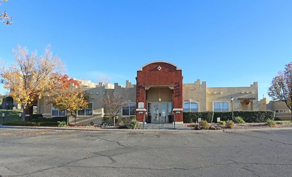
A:
<svg viewBox="0 0 292 177">
<path fill-rule="evenodd" d="M 0 128 L 0 176 L 292 177 L 291 135 Z"/>
</svg>

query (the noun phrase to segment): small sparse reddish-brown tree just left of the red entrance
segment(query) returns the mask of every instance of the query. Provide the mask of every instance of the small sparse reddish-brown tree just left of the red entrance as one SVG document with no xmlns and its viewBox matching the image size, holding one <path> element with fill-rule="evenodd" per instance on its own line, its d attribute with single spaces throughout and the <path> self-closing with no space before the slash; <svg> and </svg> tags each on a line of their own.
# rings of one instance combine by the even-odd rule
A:
<svg viewBox="0 0 292 177">
<path fill-rule="evenodd" d="M 105 94 L 100 101 L 110 111 L 110 116 L 113 118 L 113 126 L 115 126 L 115 117 L 120 110 L 128 105 L 128 101 L 121 97 L 119 93 L 113 93 L 112 95 Z"/>
</svg>

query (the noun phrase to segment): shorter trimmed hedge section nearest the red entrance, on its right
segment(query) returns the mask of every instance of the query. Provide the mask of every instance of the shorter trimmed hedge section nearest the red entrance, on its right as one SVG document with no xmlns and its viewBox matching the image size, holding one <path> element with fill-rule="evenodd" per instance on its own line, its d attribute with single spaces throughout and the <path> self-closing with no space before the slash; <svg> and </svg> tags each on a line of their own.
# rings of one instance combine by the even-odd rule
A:
<svg viewBox="0 0 292 177">
<path fill-rule="evenodd" d="M 198 118 L 208 120 L 208 122 L 212 123 L 213 118 L 214 118 L 214 112 L 213 111 L 183 112 L 183 122 L 184 123 L 197 122 Z"/>
</svg>

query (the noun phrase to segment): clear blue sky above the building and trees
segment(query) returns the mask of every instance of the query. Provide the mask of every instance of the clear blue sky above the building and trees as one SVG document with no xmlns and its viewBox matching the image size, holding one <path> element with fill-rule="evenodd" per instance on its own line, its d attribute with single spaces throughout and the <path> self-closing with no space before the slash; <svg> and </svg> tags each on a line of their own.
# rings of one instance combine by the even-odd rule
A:
<svg viewBox="0 0 292 177">
<path fill-rule="evenodd" d="M 258 97 L 292 61 L 292 0 L 9 0 L 0 24 L 0 59 L 12 48 L 39 54 L 47 44 L 69 77 L 125 85 L 150 61 L 183 69 L 183 82 L 250 86 Z M 5 91 L 0 85 L 0 93 Z"/>
</svg>

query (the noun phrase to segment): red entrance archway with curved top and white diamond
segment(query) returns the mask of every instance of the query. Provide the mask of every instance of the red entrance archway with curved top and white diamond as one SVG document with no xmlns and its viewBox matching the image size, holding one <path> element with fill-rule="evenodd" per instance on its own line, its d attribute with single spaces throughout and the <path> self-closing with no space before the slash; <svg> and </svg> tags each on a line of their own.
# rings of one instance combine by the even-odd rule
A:
<svg viewBox="0 0 292 177">
<path fill-rule="evenodd" d="M 151 88 L 171 89 L 172 109 L 183 108 L 183 76 L 182 69 L 166 61 L 153 61 L 145 64 L 137 71 L 137 108 L 139 102 L 144 102 L 147 109 L 147 91 Z M 148 115 L 149 117 L 150 115 Z M 175 113 L 176 122 L 183 122 L 183 113 Z M 143 115 L 137 113 L 137 120 L 142 122 Z M 147 121 L 147 120 L 146 120 Z M 147 122 L 149 123 L 150 120 Z M 169 123 L 173 121 L 170 116 Z"/>
</svg>

